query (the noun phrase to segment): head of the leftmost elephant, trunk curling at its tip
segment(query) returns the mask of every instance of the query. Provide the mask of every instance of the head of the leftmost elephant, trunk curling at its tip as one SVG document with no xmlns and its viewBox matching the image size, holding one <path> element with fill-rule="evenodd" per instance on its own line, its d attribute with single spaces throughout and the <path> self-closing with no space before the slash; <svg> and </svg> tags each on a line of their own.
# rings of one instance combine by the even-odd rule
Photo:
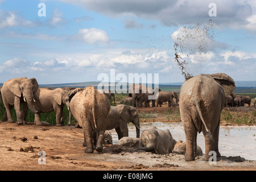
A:
<svg viewBox="0 0 256 182">
<path fill-rule="evenodd" d="M 28 107 L 33 113 L 38 113 L 38 110 L 35 110 L 35 108 L 32 106 L 32 102 L 35 101 L 34 93 L 39 88 L 38 82 L 35 78 L 14 78 L 10 80 L 7 86 L 15 96 L 19 98 L 23 97 L 23 100 L 27 102 Z"/>
</svg>

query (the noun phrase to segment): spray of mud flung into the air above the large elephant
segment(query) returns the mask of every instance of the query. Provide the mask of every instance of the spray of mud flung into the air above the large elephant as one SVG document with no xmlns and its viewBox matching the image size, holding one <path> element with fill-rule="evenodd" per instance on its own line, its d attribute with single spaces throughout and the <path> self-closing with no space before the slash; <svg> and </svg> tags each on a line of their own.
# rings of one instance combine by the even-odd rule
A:
<svg viewBox="0 0 256 182">
<path fill-rule="evenodd" d="M 214 47 L 214 37 L 218 34 L 217 24 L 210 19 L 208 23 L 188 24 L 172 33 L 175 58 L 185 80 L 193 77 L 192 72 L 202 69 L 207 53 Z M 197 68 L 196 68 L 197 67 Z"/>
</svg>

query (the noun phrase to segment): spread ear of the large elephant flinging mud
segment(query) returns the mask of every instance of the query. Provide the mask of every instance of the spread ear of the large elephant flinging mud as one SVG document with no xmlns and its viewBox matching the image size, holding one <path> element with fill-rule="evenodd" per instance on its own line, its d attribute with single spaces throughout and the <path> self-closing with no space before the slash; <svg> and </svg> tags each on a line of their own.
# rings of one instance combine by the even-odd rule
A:
<svg viewBox="0 0 256 182">
<path fill-rule="evenodd" d="M 225 97 L 230 96 L 233 90 L 236 89 L 236 84 L 232 77 L 226 75 L 225 73 L 214 73 L 210 75 L 214 80 L 222 86 L 225 92 Z"/>
</svg>

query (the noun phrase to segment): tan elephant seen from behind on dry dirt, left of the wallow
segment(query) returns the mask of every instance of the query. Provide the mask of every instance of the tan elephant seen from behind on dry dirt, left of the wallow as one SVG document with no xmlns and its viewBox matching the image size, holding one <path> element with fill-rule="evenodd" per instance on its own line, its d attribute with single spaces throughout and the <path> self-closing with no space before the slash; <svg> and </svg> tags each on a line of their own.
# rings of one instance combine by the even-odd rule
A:
<svg viewBox="0 0 256 182">
<path fill-rule="evenodd" d="M 106 130 L 105 122 L 110 110 L 108 97 L 104 93 L 99 93 L 93 86 L 86 86 L 84 90 L 73 96 L 70 109 L 73 117 L 82 126 L 84 133 L 83 145 L 86 144 L 84 152 L 93 153 L 93 141 L 96 142 L 96 151 L 102 152 Z"/>
</svg>

